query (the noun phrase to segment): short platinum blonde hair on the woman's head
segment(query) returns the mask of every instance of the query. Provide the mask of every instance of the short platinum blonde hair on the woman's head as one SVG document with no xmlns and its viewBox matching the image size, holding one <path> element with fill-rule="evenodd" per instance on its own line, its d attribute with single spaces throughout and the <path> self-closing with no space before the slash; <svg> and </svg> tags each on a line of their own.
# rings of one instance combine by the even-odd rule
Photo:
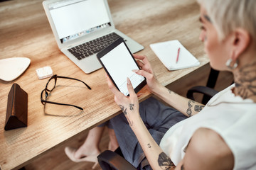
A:
<svg viewBox="0 0 256 170">
<path fill-rule="evenodd" d="M 220 40 L 243 28 L 256 40 L 256 0 L 197 0 L 208 13 Z"/>
</svg>

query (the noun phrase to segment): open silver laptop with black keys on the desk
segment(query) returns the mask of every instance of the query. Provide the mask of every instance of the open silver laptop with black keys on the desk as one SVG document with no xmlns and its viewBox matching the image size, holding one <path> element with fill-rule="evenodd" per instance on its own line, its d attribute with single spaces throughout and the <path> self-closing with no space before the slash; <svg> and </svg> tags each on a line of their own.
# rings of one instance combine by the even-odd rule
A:
<svg viewBox="0 0 256 170">
<path fill-rule="evenodd" d="M 46 0 L 43 8 L 60 51 L 86 74 L 102 67 L 97 53 L 119 37 L 132 53 L 144 49 L 114 28 L 107 0 Z"/>
</svg>

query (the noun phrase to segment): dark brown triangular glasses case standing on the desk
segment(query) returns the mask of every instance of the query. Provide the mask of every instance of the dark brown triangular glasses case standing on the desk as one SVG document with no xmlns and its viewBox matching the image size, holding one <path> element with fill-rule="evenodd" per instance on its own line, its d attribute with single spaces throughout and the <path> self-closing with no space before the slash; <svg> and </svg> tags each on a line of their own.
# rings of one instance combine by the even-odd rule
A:
<svg viewBox="0 0 256 170">
<path fill-rule="evenodd" d="M 18 84 L 13 84 L 8 94 L 4 130 L 26 127 L 28 122 L 28 94 Z"/>
</svg>

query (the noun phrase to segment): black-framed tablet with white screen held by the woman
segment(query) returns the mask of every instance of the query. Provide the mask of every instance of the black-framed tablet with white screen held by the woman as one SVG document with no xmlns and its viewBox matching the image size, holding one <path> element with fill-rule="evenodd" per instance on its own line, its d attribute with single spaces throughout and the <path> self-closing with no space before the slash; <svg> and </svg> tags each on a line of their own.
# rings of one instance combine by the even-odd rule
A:
<svg viewBox="0 0 256 170">
<path fill-rule="evenodd" d="M 129 96 L 127 77 L 131 80 L 135 93 L 146 85 L 145 77 L 132 72 L 133 69 L 139 69 L 139 65 L 122 38 L 97 53 L 97 59 L 117 89 L 125 96 Z"/>
</svg>

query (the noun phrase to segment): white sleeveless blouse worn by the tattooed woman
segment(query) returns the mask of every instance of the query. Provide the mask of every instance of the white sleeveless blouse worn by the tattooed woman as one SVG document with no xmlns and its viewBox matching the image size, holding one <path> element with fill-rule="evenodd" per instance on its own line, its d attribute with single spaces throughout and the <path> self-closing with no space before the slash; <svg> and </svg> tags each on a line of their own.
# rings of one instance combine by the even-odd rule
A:
<svg viewBox="0 0 256 170">
<path fill-rule="evenodd" d="M 213 96 L 203 110 L 171 127 L 160 147 L 175 165 L 183 159 L 184 149 L 198 128 L 217 132 L 235 157 L 234 169 L 256 169 L 256 103 L 235 96 L 235 85 Z"/>
</svg>

